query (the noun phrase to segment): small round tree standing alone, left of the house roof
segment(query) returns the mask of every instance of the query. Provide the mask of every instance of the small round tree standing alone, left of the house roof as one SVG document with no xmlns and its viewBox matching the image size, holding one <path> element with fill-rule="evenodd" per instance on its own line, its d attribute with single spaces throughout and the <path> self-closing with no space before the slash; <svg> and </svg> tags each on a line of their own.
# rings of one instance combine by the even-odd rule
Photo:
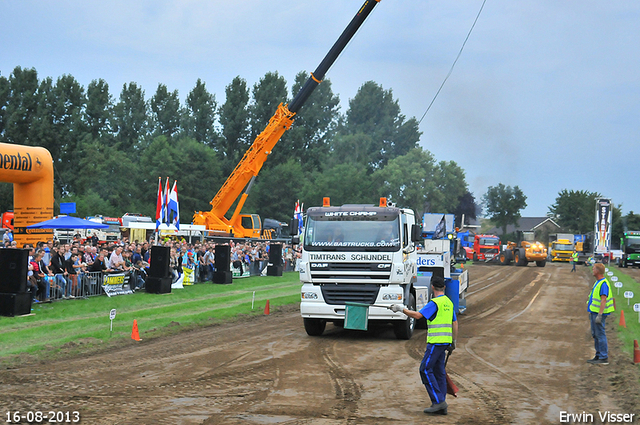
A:
<svg viewBox="0 0 640 425">
<path fill-rule="evenodd" d="M 489 186 L 483 196 L 484 209 L 488 217 L 497 227 L 502 228 L 502 235 L 506 235 L 509 224 L 518 224 L 520 210 L 526 208 L 527 197 L 518 186 Z"/>
</svg>

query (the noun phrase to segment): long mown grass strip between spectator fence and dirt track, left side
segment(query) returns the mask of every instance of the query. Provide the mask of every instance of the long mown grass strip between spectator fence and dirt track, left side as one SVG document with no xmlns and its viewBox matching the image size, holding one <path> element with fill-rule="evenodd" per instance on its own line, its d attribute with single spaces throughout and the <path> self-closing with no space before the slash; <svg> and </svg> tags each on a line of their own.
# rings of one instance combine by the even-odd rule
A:
<svg viewBox="0 0 640 425">
<path fill-rule="evenodd" d="M 55 356 L 63 346 L 79 341 L 83 349 L 100 349 L 130 339 L 134 319 L 141 337 L 149 338 L 175 333 L 176 328 L 182 331 L 239 315 L 264 314 L 267 300 L 271 308 L 299 302 L 298 273 L 234 279 L 231 285 L 201 283 L 170 294 L 141 291 L 33 304 L 31 315 L 0 316 L 0 359 L 15 360 L 18 354 Z M 111 309 L 116 309 L 113 331 Z"/>
</svg>

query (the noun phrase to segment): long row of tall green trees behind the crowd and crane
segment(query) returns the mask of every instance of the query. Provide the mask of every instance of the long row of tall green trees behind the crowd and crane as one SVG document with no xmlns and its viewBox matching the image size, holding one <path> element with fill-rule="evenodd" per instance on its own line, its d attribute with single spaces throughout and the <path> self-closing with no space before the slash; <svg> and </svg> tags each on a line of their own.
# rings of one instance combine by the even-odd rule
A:
<svg viewBox="0 0 640 425">
<path fill-rule="evenodd" d="M 40 79 L 34 68 L 0 75 L 0 142 L 42 146 L 54 161 L 54 193 L 75 202 L 77 215 L 155 216 L 158 177 L 178 181 L 181 217 L 209 210 L 209 201 L 267 125 L 307 79 L 288 89 L 277 72 L 252 87 L 240 76 L 218 102 L 198 79 L 184 102 L 158 84 L 147 97 L 135 82 L 117 96 L 103 79 L 85 88 L 72 75 Z M 296 200 L 305 206 L 377 203 L 387 197 L 416 213 L 474 217 L 476 203 L 454 161 L 438 161 L 418 145 L 415 118 L 401 113 L 391 89 L 367 81 L 345 113 L 331 81 L 318 86 L 292 128 L 273 149 L 243 208 L 288 221 Z M 0 210 L 13 205 L 0 184 Z"/>
</svg>

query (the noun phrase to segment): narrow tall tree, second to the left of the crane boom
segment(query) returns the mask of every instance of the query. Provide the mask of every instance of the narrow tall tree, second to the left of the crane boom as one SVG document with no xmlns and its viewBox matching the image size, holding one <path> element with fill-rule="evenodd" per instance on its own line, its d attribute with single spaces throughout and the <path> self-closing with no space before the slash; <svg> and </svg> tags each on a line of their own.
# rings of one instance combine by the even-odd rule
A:
<svg viewBox="0 0 640 425">
<path fill-rule="evenodd" d="M 218 150 L 225 159 L 224 174 L 229 175 L 251 146 L 249 132 L 249 89 L 247 82 L 237 76 L 225 88 L 226 99 L 220 107 L 222 140 Z"/>
</svg>

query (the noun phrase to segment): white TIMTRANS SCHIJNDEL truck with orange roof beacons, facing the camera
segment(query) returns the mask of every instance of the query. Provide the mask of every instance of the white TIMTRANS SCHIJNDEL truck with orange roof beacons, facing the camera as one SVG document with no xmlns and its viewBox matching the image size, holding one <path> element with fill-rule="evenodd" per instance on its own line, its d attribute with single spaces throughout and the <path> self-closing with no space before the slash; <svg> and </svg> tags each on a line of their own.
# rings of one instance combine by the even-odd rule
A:
<svg viewBox="0 0 640 425">
<path fill-rule="evenodd" d="M 368 320 L 392 323 L 398 339 L 410 339 L 415 320 L 386 307 L 415 310 L 428 301 L 427 288 L 416 287 L 420 235 L 414 212 L 385 198 L 378 206 L 339 207 L 325 198 L 322 207 L 309 208 L 299 260 L 307 334 L 322 335 L 327 322 L 343 325 L 345 303 L 354 302 L 371 306 Z"/>
</svg>

